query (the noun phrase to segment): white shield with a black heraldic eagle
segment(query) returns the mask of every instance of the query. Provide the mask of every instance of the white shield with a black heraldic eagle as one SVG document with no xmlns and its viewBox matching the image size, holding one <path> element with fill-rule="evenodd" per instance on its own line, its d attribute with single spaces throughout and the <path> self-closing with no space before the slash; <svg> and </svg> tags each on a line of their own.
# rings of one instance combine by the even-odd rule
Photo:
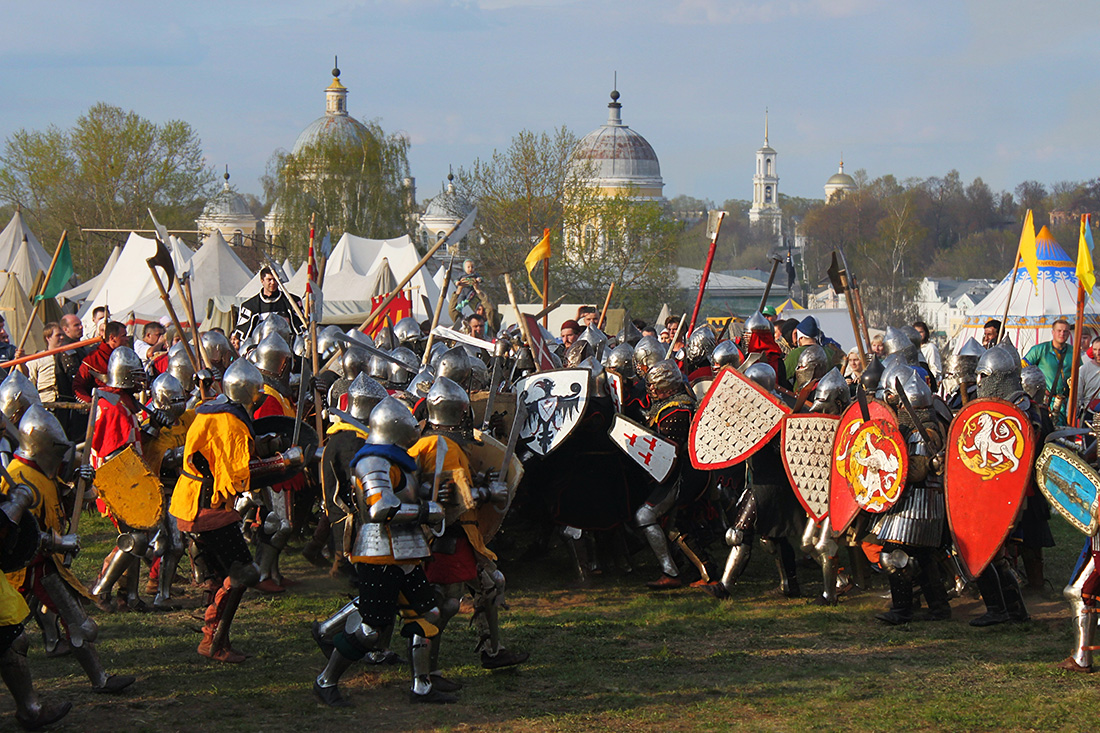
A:
<svg viewBox="0 0 1100 733">
<path fill-rule="evenodd" d="M 539 456 L 560 446 L 584 416 L 588 405 L 588 375 L 586 369 L 558 369 L 538 372 L 517 382 L 519 402 L 527 407 L 519 441 Z"/>
</svg>

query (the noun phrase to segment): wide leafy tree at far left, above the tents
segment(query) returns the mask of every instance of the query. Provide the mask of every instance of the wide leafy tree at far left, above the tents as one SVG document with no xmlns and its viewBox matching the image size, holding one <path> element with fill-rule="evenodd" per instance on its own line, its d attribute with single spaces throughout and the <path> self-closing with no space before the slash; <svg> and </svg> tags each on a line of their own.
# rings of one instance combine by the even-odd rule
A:
<svg viewBox="0 0 1100 733">
<path fill-rule="evenodd" d="M 157 124 L 105 102 L 70 130 L 18 130 L 0 155 L 0 200 L 22 206 L 43 241 L 67 229 L 84 274 L 107 251 L 90 248 L 81 229 L 146 228 L 147 209 L 169 228 L 193 229 L 213 180 L 187 122 Z"/>
</svg>

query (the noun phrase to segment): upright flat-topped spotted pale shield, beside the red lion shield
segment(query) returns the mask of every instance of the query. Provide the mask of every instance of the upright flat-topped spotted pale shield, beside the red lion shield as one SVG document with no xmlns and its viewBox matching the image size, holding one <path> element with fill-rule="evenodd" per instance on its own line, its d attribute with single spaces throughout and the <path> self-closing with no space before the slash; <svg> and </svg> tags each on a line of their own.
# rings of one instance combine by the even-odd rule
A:
<svg viewBox="0 0 1100 733">
<path fill-rule="evenodd" d="M 828 514 L 833 442 L 840 424 L 837 415 L 788 415 L 783 418 L 783 468 L 794 493 L 814 522 Z"/>
</svg>

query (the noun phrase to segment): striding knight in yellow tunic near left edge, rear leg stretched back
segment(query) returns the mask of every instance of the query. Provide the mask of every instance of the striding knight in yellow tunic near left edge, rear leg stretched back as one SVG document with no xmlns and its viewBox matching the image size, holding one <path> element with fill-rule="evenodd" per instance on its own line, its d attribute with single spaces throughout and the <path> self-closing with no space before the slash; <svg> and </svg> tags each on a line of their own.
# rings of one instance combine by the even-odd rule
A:
<svg viewBox="0 0 1100 733">
<path fill-rule="evenodd" d="M 79 549 L 76 535 L 65 534 L 69 519 L 62 502 L 66 486 L 59 478 L 74 470 L 74 446 L 57 418 L 41 405 L 26 411 L 19 424 L 19 448 L 8 467 L 15 488 L 6 481 L 4 490 L 9 496 L 16 495 L 21 489 L 32 490 L 33 502 L 25 508 L 53 540 L 34 556 L 25 570 L 8 579 L 30 604 L 45 605 L 61 619 L 70 654 L 84 669 L 92 690 L 109 694 L 121 692 L 133 685 L 134 678 L 108 675 L 103 669 L 96 648 L 99 627 L 85 611 L 85 603 L 94 597 L 69 570 L 65 558 L 66 554 Z M 77 469 L 74 478 L 90 483 L 94 477 L 95 470 L 85 466 Z"/>
</svg>

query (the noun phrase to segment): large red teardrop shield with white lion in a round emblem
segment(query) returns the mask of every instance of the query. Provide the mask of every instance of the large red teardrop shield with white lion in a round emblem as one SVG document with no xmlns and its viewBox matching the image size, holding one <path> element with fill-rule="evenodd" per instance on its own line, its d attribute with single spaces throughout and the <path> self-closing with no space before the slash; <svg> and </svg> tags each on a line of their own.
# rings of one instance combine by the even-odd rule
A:
<svg viewBox="0 0 1100 733">
<path fill-rule="evenodd" d="M 986 569 L 1020 514 L 1035 433 L 1004 400 L 972 400 L 952 420 L 944 462 L 947 521 L 970 575 Z"/>
</svg>

